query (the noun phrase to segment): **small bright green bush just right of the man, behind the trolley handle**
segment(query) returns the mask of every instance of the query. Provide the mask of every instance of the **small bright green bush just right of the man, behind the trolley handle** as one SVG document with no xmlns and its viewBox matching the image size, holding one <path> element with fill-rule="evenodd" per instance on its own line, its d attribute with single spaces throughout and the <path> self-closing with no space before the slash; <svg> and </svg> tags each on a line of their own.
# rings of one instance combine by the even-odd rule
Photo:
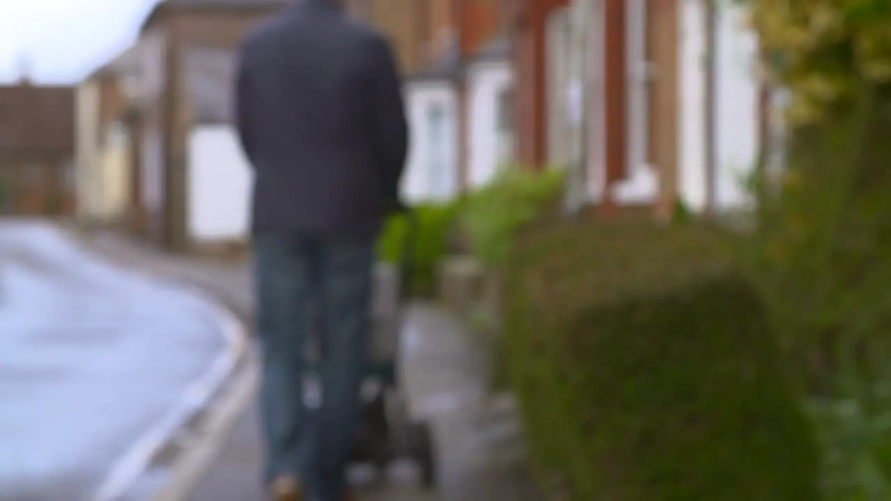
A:
<svg viewBox="0 0 891 501">
<path fill-rule="evenodd" d="M 454 225 L 459 206 L 460 202 L 453 201 L 412 208 L 416 227 L 411 249 L 412 283 L 409 290 L 413 295 L 429 296 L 433 292 L 437 263 L 446 254 L 449 230 Z M 408 229 L 406 215 L 389 218 L 378 240 L 378 258 L 393 264 L 404 259 Z"/>
</svg>

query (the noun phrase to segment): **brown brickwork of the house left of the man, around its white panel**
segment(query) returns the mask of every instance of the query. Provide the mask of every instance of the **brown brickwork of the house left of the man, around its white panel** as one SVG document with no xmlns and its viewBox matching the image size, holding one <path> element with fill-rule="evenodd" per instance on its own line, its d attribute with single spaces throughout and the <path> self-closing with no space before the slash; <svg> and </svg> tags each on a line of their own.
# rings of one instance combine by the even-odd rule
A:
<svg viewBox="0 0 891 501">
<path fill-rule="evenodd" d="M 186 103 L 185 52 L 201 46 L 233 50 L 247 29 L 288 0 L 166 0 L 149 13 L 137 41 L 141 54 L 139 175 L 131 220 L 152 242 L 188 247 L 185 159 L 192 111 Z"/>
</svg>

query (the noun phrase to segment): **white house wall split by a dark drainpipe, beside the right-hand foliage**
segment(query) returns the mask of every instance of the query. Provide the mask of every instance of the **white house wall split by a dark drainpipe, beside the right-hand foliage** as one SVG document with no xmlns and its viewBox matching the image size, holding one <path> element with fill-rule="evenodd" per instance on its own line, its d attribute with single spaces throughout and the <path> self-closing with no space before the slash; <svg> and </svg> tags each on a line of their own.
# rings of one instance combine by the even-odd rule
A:
<svg viewBox="0 0 891 501">
<path fill-rule="evenodd" d="M 747 201 L 742 180 L 754 168 L 757 155 L 758 83 L 754 62 L 756 40 L 743 28 L 740 7 L 722 4 L 717 25 L 715 90 L 716 190 L 720 209 Z M 681 198 L 690 209 L 703 209 L 705 175 L 705 51 L 703 12 L 699 0 L 683 0 L 680 12 Z"/>
</svg>

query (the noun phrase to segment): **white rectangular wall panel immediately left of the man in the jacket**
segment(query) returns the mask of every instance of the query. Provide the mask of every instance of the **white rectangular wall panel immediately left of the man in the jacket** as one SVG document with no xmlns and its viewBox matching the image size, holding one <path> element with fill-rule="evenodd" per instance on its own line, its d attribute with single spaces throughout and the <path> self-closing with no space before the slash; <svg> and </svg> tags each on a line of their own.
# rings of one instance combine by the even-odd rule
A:
<svg viewBox="0 0 891 501">
<path fill-rule="evenodd" d="M 247 238 L 253 175 L 233 127 L 195 127 L 187 166 L 186 228 L 192 242 Z"/>
</svg>

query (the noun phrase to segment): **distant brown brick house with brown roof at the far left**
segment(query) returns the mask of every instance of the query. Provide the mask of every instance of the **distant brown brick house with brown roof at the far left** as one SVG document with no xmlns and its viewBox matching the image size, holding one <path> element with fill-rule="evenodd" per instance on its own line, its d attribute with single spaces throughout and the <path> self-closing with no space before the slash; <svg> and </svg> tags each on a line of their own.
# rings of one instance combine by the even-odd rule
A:
<svg viewBox="0 0 891 501">
<path fill-rule="evenodd" d="M 73 215 L 74 88 L 0 86 L 0 212 Z"/>
</svg>

